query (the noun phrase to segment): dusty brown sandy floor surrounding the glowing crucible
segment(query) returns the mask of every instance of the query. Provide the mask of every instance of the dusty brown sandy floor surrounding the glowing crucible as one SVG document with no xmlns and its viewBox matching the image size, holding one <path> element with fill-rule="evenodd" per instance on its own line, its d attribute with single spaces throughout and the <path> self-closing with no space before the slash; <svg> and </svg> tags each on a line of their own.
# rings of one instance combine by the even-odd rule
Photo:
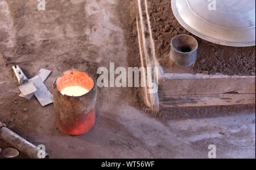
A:
<svg viewBox="0 0 256 170">
<path fill-rule="evenodd" d="M 38 11 L 34 0 L 8 2 L 0 0 L 0 119 L 32 143 L 44 144 L 52 158 L 207 158 L 210 144 L 216 144 L 219 158 L 255 157 L 254 107 L 196 115 L 167 110 L 173 119 L 163 123 L 135 107 L 133 88 L 99 89 L 94 128 L 82 136 L 63 134 L 53 105 L 18 97 L 11 66 L 20 65 L 29 78 L 40 68 L 51 70 L 45 82 L 50 90 L 53 78 L 67 69 L 97 78 L 97 68 L 110 62 L 129 67 L 138 59 L 136 33 L 127 27 L 135 0 L 47 1 L 46 11 Z M 6 147 L 1 140 L 0 147 Z"/>
</svg>

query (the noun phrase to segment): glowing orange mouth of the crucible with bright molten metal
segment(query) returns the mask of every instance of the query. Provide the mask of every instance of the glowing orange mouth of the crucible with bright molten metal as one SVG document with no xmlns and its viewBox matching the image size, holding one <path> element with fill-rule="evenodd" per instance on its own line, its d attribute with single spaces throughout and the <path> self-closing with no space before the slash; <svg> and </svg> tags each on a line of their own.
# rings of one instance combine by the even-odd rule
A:
<svg viewBox="0 0 256 170">
<path fill-rule="evenodd" d="M 61 94 L 74 97 L 88 93 L 94 86 L 92 77 L 80 71 L 67 71 L 56 83 Z"/>
</svg>

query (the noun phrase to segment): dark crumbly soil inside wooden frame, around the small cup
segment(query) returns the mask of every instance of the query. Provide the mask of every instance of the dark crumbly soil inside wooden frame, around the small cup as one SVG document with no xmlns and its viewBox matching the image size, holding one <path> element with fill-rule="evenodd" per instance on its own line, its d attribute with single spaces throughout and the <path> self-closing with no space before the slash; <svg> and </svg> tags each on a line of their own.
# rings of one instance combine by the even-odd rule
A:
<svg viewBox="0 0 256 170">
<path fill-rule="evenodd" d="M 170 67 L 170 42 L 176 35 L 192 35 L 176 20 L 171 10 L 170 0 L 150 0 L 148 10 L 156 46 L 156 56 L 160 65 Z M 255 75 L 255 46 L 228 47 L 207 42 L 192 35 L 199 42 L 196 73 Z"/>
</svg>

